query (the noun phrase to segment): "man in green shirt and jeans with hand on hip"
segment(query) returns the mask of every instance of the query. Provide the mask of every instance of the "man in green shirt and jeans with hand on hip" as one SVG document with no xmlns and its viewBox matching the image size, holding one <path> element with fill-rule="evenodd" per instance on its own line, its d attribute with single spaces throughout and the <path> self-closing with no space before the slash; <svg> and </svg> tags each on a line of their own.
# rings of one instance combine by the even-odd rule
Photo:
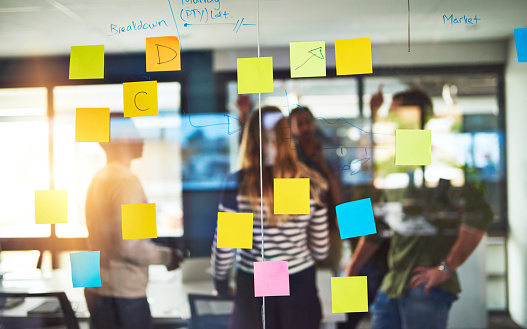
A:
<svg viewBox="0 0 527 329">
<path fill-rule="evenodd" d="M 382 103 L 379 91 L 371 99 L 372 116 Z M 408 90 L 393 96 L 390 112 L 416 118 L 414 127 L 423 129 L 433 115 L 432 102 L 425 92 Z M 478 246 L 492 211 L 471 184 L 452 188 L 444 179 L 437 188 L 410 184 L 398 201 L 400 212 L 392 220 L 402 225 L 393 230 L 372 329 L 445 329 L 460 292 L 456 270 Z M 378 235 L 361 237 L 345 274 L 357 275 L 381 241 Z"/>
</svg>

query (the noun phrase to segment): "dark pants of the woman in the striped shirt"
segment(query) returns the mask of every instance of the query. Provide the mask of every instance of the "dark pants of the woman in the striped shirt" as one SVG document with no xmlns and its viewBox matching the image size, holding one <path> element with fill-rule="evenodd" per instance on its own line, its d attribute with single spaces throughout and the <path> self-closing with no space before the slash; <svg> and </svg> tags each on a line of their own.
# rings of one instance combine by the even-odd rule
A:
<svg viewBox="0 0 527 329">
<path fill-rule="evenodd" d="M 315 267 L 289 276 L 290 296 L 265 297 L 266 329 L 318 329 L 322 310 Z M 254 297 L 254 275 L 238 271 L 230 329 L 262 328 L 262 297 Z"/>
</svg>

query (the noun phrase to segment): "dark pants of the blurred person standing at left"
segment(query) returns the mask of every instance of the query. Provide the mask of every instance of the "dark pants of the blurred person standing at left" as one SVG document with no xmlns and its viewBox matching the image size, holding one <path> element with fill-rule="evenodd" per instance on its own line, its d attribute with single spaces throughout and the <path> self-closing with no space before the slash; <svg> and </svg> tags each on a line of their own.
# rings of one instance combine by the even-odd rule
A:
<svg viewBox="0 0 527 329">
<path fill-rule="evenodd" d="M 84 290 L 92 329 L 152 329 L 146 297 L 116 298 Z"/>
</svg>

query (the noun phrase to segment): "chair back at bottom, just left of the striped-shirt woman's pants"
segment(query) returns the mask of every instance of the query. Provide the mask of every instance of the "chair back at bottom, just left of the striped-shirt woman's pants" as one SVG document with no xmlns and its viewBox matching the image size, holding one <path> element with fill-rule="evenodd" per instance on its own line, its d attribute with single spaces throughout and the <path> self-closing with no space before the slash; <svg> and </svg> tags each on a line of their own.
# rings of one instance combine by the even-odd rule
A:
<svg viewBox="0 0 527 329">
<path fill-rule="evenodd" d="M 189 294 L 190 329 L 227 329 L 234 297 Z"/>
</svg>

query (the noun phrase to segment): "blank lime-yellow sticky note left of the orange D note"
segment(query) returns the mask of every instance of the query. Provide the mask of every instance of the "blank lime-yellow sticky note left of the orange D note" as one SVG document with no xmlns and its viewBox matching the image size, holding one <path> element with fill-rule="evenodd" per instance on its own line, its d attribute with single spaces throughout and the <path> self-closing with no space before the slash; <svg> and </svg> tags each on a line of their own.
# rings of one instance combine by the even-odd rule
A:
<svg viewBox="0 0 527 329">
<path fill-rule="evenodd" d="M 104 45 L 72 46 L 70 79 L 104 79 Z"/>
</svg>

